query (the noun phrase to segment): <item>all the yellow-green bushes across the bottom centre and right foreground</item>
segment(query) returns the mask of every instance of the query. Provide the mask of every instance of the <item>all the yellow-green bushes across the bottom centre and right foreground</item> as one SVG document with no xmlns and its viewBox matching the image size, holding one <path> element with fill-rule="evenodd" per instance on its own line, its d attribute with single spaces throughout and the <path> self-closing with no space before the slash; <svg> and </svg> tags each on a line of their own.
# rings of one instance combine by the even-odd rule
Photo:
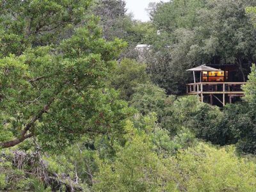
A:
<svg viewBox="0 0 256 192">
<path fill-rule="evenodd" d="M 131 126 L 131 125 L 130 125 Z M 131 129 L 132 131 L 132 129 Z M 131 134 L 131 133 L 130 133 Z M 113 163 L 99 162 L 95 191 L 253 191 L 255 164 L 234 150 L 203 143 L 163 158 L 143 132 L 132 131 Z"/>
</svg>

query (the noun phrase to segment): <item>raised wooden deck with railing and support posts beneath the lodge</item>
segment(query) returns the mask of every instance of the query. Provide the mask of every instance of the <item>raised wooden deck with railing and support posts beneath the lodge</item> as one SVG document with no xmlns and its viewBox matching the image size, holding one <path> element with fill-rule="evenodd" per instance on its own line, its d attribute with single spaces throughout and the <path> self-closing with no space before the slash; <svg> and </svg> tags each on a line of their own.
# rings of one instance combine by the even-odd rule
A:
<svg viewBox="0 0 256 192">
<path fill-rule="evenodd" d="M 223 106 L 226 104 L 226 97 L 228 102 L 232 103 L 233 97 L 243 97 L 244 92 L 242 90 L 245 82 L 202 82 L 202 83 L 190 83 L 187 84 L 188 95 L 198 95 L 202 102 L 204 97 L 210 98 L 212 104 L 212 98 L 214 97 Z M 220 96 L 221 95 L 221 96 Z M 220 99 L 221 97 L 221 99 Z"/>
</svg>

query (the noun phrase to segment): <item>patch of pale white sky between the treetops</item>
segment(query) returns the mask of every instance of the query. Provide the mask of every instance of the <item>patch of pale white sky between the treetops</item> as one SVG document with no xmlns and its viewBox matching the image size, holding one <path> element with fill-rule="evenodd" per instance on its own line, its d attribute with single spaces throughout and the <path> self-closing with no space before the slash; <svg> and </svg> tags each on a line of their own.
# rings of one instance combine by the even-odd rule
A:
<svg viewBox="0 0 256 192">
<path fill-rule="evenodd" d="M 148 4 L 151 2 L 159 3 L 160 1 L 167 2 L 169 0 L 125 0 L 128 13 L 132 12 L 134 19 L 148 21 L 149 15 L 147 12 Z"/>
</svg>

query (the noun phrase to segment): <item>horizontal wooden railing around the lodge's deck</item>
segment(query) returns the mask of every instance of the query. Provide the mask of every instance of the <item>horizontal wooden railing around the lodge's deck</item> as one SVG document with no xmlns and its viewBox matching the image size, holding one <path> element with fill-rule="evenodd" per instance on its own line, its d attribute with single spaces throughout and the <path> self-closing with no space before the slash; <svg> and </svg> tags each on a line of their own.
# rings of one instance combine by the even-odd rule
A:
<svg viewBox="0 0 256 192">
<path fill-rule="evenodd" d="M 243 93 L 245 82 L 202 82 L 187 84 L 188 94 L 198 93 Z"/>
</svg>

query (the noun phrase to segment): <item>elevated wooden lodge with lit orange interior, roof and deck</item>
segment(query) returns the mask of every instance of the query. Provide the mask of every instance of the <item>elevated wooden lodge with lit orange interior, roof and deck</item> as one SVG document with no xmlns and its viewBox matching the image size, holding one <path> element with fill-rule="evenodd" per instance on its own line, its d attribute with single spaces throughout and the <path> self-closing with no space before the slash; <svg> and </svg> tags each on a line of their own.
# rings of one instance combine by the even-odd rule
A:
<svg viewBox="0 0 256 192">
<path fill-rule="evenodd" d="M 202 102 L 218 106 L 236 102 L 244 96 L 241 86 L 245 82 L 236 82 L 236 68 L 232 65 L 220 65 L 213 68 L 206 65 L 191 68 L 194 83 L 187 84 L 188 95 L 198 95 Z"/>
</svg>

